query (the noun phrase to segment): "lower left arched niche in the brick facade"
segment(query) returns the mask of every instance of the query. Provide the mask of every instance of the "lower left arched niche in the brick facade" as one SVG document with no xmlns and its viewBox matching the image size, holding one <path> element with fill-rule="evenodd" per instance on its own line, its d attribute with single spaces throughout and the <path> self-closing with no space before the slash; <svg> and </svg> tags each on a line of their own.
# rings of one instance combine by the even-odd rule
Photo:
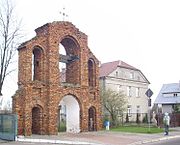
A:
<svg viewBox="0 0 180 145">
<path fill-rule="evenodd" d="M 32 134 L 42 133 L 42 109 L 38 107 L 32 108 Z"/>
</svg>

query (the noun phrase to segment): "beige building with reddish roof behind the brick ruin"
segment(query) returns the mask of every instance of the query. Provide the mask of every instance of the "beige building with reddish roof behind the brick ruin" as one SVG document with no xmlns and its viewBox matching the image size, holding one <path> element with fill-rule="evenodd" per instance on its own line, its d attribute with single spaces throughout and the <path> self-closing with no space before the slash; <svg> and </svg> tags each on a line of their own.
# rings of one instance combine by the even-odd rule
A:
<svg viewBox="0 0 180 145">
<path fill-rule="evenodd" d="M 108 62 L 100 66 L 101 87 L 122 91 L 128 100 L 127 112 L 129 115 L 148 112 L 148 98 L 145 92 L 149 84 L 139 69 L 123 61 Z"/>
</svg>

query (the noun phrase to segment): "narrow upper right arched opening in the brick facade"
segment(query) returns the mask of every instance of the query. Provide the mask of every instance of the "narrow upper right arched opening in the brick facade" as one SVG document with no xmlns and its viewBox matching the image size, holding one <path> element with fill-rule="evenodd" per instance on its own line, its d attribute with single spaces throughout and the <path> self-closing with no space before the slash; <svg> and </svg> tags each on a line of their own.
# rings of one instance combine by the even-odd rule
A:
<svg viewBox="0 0 180 145">
<path fill-rule="evenodd" d="M 88 60 L 88 83 L 90 87 L 95 86 L 95 64 L 94 60 Z"/>
</svg>

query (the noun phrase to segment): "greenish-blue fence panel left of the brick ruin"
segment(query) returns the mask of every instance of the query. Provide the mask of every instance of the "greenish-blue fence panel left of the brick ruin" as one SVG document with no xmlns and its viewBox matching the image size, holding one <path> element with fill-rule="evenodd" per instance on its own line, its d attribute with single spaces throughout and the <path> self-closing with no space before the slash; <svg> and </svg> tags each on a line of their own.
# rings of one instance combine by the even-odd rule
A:
<svg viewBox="0 0 180 145">
<path fill-rule="evenodd" d="M 15 140 L 17 136 L 17 116 L 14 114 L 0 114 L 0 138 Z"/>
</svg>

